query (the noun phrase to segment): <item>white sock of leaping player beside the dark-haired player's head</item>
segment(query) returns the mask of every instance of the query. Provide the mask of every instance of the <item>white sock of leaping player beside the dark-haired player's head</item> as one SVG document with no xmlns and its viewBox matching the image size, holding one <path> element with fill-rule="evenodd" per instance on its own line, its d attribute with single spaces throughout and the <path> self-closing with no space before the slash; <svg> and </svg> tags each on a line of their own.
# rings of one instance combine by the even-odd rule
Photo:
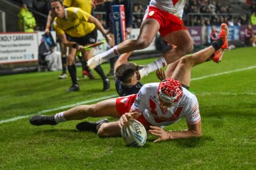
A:
<svg viewBox="0 0 256 170">
<path fill-rule="evenodd" d="M 160 57 L 154 62 L 151 62 L 149 65 L 145 65 L 142 67 L 142 69 L 139 70 L 139 74 L 142 77 L 145 77 L 149 73 L 152 73 L 153 71 L 156 71 L 157 69 L 161 69 L 162 67 L 165 67 L 167 65 L 166 60 L 164 57 Z"/>
</svg>

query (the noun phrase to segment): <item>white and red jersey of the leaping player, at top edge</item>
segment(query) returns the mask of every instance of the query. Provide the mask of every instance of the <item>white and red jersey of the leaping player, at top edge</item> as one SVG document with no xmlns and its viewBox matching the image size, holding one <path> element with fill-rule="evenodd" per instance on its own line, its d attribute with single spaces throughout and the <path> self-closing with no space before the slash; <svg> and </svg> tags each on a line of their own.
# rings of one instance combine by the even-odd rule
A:
<svg viewBox="0 0 256 170">
<path fill-rule="evenodd" d="M 157 7 L 158 9 L 182 18 L 186 2 L 187 0 L 151 0 L 150 6 Z"/>
</svg>

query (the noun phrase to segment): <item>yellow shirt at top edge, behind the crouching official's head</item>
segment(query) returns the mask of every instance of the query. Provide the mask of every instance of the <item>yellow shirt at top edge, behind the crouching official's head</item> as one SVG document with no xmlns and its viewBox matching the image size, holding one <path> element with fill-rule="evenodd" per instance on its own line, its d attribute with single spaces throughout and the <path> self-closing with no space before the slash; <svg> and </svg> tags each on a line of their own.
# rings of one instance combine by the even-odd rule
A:
<svg viewBox="0 0 256 170">
<path fill-rule="evenodd" d="M 79 7 L 87 13 L 92 13 L 92 0 L 64 0 L 66 7 Z"/>
</svg>

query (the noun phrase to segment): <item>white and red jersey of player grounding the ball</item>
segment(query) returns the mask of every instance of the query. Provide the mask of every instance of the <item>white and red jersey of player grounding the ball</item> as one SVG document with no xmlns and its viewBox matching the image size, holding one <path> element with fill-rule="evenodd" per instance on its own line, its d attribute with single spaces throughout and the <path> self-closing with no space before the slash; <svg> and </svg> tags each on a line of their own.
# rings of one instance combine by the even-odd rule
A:
<svg viewBox="0 0 256 170">
<path fill-rule="evenodd" d="M 181 99 L 172 108 L 163 112 L 159 106 L 158 85 L 159 83 L 143 85 L 131 109 L 143 114 L 144 118 L 154 126 L 168 126 L 184 117 L 187 124 L 196 124 L 201 120 L 197 97 L 185 88 Z"/>
</svg>

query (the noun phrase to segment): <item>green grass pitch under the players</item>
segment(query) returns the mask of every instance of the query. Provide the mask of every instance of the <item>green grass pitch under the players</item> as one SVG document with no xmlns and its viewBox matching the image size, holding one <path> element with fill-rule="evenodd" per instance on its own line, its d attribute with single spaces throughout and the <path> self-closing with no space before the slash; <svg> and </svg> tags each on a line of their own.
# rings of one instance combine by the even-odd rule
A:
<svg viewBox="0 0 256 170">
<path fill-rule="evenodd" d="M 102 67 L 108 73 L 109 64 Z M 199 100 L 201 138 L 154 143 L 156 137 L 148 134 L 141 148 L 125 146 L 122 138 L 77 132 L 80 121 L 30 125 L 31 115 L 53 115 L 117 96 L 113 77 L 110 91 L 102 92 L 100 77 L 94 72 L 95 80 L 83 79 L 81 68 L 80 91 L 65 93 L 71 81 L 57 79 L 60 73 L 0 77 L 0 169 L 256 169 L 256 48 L 227 51 L 220 64 L 193 68 L 191 91 Z M 155 73 L 142 83 L 152 81 L 158 81 Z M 185 128 L 181 120 L 165 129 Z"/>
</svg>

